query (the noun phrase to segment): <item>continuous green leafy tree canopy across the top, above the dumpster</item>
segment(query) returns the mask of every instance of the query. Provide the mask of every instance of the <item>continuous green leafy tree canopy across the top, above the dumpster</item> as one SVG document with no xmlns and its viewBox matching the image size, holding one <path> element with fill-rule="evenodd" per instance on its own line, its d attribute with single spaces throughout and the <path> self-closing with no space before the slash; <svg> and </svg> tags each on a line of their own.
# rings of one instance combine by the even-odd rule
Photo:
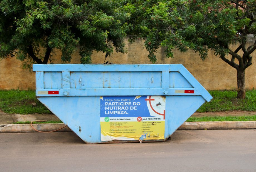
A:
<svg viewBox="0 0 256 172">
<path fill-rule="evenodd" d="M 213 49 L 234 68 L 245 69 L 256 49 L 256 43 L 245 47 L 247 35 L 256 32 L 255 0 L 1 0 L 0 8 L 0 58 L 16 54 L 29 63 L 51 61 L 54 49 L 70 62 L 79 47 L 81 63 L 90 63 L 93 50 L 125 53 L 127 33 L 130 43 L 145 40 L 153 63 L 160 46 L 168 58 L 174 48 L 190 48 L 203 60 Z M 231 50 L 232 43 L 240 46 Z"/>
</svg>

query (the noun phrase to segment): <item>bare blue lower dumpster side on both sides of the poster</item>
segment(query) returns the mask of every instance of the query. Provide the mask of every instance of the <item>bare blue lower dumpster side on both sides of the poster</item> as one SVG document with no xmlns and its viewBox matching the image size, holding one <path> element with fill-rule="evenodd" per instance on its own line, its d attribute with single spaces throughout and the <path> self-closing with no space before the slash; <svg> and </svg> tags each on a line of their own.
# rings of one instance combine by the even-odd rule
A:
<svg viewBox="0 0 256 172">
<path fill-rule="evenodd" d="M 100 139 L 100 96 L 38 98 L 67 124 L 83 141 L 104 143 Z M 164 137 L 168 138 L 203 103 L 201 96 L 166 96 Z M 61 108 L 60 108 L 61 107 Z"/>
</svg>

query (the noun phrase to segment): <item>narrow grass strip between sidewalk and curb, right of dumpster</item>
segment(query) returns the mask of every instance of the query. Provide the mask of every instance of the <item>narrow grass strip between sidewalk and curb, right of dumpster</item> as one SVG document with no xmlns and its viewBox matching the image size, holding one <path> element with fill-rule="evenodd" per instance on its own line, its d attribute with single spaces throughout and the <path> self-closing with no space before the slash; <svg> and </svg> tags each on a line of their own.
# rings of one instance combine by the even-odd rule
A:
<svg viewBox="0 0 256 172">
<path fill-rule="evenodd" d="M 186 122 L 206 122 L 206 121 L 256 121 L 256 115 L 252 116 L 204 116 L 190 117 Z"/>
</svg>

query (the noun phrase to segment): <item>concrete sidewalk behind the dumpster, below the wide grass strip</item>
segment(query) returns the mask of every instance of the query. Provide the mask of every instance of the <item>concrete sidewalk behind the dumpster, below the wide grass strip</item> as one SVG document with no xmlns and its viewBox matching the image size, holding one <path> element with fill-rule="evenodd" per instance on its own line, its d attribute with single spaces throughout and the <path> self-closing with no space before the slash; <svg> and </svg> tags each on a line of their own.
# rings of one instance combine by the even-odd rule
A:
<svg viewBox="0 0 256 172">
<path fill-rule="evenodd" d="M 204 117 L 204 116 L 252 116 L 256 112 L 248 111 L 232 111 L 232 112 L 208 112 L 208 113 L 194 113 L 191 117 Z M 0 125 L 13 124 L 18 121 L 58 121 L 60 120 L 54 114 L 6 114 L 0 110 Z"/>
</svg>

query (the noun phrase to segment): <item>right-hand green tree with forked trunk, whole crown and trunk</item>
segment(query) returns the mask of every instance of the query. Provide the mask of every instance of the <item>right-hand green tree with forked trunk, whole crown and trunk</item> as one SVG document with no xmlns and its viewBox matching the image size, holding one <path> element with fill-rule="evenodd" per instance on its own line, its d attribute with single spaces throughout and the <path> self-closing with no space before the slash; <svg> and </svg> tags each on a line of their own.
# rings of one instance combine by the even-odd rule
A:
<svg viewBox="0 0 256 172">
<path fill-rule="evenodd" d="M 134 29 L 130 34 L 145 40 L 152 62 L 159 46 L 165 47 L 168 58 L 173 57 L 174 48 L 182 52 L 190 48 L 204 60 L 211 49 L 237 70 L 237 98 L 245 98 L 245 69 L 252 65 L 256 49 L 256 41 L 246 45 L 248 35 L 256 34 L 255 0 L 146 0 L 130 2 L 124 10 L 131 12 Z M 230 49 L 230 44 L 237 48 Z"/>
</svg>

